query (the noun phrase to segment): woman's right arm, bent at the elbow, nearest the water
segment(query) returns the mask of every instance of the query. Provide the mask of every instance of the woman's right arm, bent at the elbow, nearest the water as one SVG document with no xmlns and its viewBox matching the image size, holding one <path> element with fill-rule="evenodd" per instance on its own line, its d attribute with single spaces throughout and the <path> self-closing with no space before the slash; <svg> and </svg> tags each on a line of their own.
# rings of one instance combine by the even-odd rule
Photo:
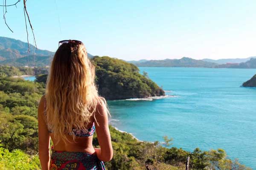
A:
<svg viewBox="0 0 256 170">
<path fill-rule="evenodd" d="M 108 128 L 108 112 L 105 103 L 102 101 L 98 104 L 95 113 L 96 133 L 101 149 L 95 148 L 96 155 L 101 161 L 110 161 L 113 157 L 113 148 L 111 136 Z"/>
</svg>

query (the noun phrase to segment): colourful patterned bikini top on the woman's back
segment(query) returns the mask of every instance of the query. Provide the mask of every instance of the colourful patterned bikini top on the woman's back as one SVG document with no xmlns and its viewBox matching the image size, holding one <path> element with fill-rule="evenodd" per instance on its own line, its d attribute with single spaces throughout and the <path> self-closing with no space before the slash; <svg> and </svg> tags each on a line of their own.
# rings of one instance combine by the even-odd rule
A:
<svg viewBox="0 0 256 170">
<path fill-rule="evenodd" d="M 46 99 L 44 98 L 44 116 L 47 116 L 46 115 Z M 48 131 L 49 133 L 52 133 L 52 130 L 50 129 L 50 127 L 47 125 L 47 128 L 48 128 Z M 90 127 L 89 129 L 76 129 L 76 128 L 73 128 L 72 129 L 72 133 L 68 133 L 69 135 L 73 135 L 75 134 L 75 136 L 93 136 L 93 133 L 95 132 L 95 125 L 94 125 L 94 122 L 93 122 L 93 126 Z"/>
</svg>

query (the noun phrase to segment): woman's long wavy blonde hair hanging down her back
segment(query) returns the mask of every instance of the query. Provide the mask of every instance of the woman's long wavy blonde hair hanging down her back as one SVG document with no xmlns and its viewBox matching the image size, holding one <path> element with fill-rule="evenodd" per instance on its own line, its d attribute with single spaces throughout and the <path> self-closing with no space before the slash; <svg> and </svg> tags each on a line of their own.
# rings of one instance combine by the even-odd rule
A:
<svg viewBox="0 0 256 170">
<path fill-rule="evenodd" d="M 64 43 L 58 48 L 46 85 L 46 122 L 58 141 L 67 142 L 67 133 L 73 135 L 74 141 L 73 128 L 87 129 L 96 106 L 105 105 L 94 79 L 95 67 L 83 44 Z"/>
</svg>

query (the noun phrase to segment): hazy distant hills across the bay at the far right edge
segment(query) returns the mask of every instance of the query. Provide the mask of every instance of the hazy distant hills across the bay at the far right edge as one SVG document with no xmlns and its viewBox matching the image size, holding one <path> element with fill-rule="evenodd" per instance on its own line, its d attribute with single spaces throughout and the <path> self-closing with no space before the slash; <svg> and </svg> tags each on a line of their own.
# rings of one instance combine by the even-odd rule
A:
<svg viewBox="0 0 256 170">
<path fill-rule="evenodd" d="M 215 68 L 256 68 L 256 58 L 251 58 L 247 62 L 216 65 Z"/>
</svg>

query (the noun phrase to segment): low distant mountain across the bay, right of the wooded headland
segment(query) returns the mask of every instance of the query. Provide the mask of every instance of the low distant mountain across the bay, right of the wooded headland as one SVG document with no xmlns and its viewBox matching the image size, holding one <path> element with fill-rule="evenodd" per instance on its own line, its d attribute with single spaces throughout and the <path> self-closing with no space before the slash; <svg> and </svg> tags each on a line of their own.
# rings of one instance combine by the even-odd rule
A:
<svg viewBox="0 0 256 170">
<path fill-rule="evenodd" d="M 128 61 L 130 62 L 130 61 Z M 131 62 L 134 63 L 134 62 Z M 181 59 L 147 60 L 135 62 L 138 67 L 215 67 L 216 63 L 183 57 Z"/>
</svg>

